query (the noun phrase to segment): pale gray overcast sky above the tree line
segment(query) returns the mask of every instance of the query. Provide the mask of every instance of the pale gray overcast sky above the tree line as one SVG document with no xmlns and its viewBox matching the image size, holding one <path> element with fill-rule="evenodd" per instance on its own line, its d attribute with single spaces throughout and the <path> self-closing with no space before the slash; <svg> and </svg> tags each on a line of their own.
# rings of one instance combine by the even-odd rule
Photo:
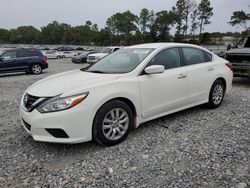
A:
<svg viewBox="0 0 250 188">
<path fill-rule="evenodd" d="M 139 15 L 142 8 L 169 10 L 176 0 L 0 0 L 0 28 L 16 28 L 33 25 L 36 28 L 57 20 L 72 26 L 84 24 L 86 20 L 105 25 L 112 14 L 130 10 Z M 200 2 L 200 0 L 197 0 Z M 212 24 L 205 27 L 208 32 L 242 31 L 227 24 L 233 11 L 250 13 L 249 0 L 211 0 L 214 7 Z"/>
</svg>

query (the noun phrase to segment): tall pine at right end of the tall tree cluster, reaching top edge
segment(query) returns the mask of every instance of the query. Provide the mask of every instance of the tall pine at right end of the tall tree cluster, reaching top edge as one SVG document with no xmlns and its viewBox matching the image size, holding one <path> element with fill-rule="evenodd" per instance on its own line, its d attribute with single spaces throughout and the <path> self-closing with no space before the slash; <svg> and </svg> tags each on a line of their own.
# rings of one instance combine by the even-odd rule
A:
<svg viewBox="0 0 250 188">
<path fill-rule="evenodd" d="M 210 0 L 201 0 L 198 6 L 198 19 L 200 20 L 200 34 L 204 25 L 210 24 L 209 20 L 213 16 L 213 7 L 210 6 Z"/>
</svg>

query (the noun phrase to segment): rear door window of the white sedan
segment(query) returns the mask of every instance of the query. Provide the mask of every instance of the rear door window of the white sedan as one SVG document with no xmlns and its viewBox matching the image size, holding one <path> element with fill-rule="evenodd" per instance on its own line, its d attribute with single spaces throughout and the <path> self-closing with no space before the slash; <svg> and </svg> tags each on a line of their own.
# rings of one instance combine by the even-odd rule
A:
<svg viewBox="0 0 250 188">
<path fill-rule="evenodd" d="M 206 62 L 204 53 L 196 48 L 182 48 L 185 65 L 194 65 Z"/>
</svg>

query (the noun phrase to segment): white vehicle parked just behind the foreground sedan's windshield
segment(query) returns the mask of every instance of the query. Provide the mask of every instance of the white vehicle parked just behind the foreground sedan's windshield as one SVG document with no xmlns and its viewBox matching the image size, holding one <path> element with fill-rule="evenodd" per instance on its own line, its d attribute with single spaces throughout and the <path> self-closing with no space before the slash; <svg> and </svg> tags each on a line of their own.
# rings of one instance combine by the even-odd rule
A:
<svg viewBox="0 0 250 188">
<path fill-rule="evenodd" d="M 96 63 L 100 59 L 104 58 L 105 56 L 121 49 L 121 47 L 106 47 L 101 50 L 100 53 L 94 53 L 87 56 L 88 63 Z"/>
</svg>

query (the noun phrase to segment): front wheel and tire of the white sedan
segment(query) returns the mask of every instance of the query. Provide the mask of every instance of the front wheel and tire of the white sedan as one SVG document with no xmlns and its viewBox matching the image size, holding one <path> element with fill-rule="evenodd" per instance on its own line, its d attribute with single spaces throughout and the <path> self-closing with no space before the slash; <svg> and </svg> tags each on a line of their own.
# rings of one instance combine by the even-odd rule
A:
<svg viewBox="0 0 250 188">
<path fill-rule="evenodd" d="M 120 100 L 107 102 L 94 118 L 93 138 L 101 145 L 116 145 L 128 136 L 133 122 L 132 110 L 126 103 Z"/>
</svg>

